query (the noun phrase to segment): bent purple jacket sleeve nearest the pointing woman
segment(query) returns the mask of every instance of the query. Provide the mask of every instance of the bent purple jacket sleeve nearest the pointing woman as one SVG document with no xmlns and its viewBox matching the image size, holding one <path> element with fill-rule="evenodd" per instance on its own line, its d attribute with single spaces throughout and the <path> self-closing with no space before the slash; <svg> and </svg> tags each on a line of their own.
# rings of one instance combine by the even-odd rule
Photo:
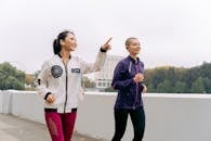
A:
<svg viewBox="0 0 211 141">
<path fill-rule="evenodd" d="M 135 84 L 133 78 L 126 79 L 127 68 L 119 62 L 115 68 L 111 87 L 114 89 L 126 89 L 131 84 Z"/>
</svg>

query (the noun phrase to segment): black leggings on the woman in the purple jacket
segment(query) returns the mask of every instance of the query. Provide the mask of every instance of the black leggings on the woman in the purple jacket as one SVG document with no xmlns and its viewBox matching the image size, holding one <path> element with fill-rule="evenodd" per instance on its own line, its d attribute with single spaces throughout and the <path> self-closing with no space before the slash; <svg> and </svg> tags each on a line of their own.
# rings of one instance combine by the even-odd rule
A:
<svg viewBox="0 0 211 141">
<path fill-rule="evenodd" d="M 145 113 L 143 107 L 137 110 L 115 110 L 115 136 L 111 141 L 121 141 L 130 114 L 134 129 L 133 141 L 142 141 L 145 130 Z"/>
</svg>

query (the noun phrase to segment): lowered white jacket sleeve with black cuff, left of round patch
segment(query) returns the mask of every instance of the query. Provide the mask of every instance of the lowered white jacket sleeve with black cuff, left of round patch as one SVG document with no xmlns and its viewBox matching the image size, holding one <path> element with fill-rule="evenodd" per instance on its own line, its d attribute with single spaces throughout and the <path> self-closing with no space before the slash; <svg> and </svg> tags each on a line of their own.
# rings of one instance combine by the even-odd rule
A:
<svg viewBox="0 0 211 141">
<path fill-rule="evenodd" d="M 51 93 L 51 91 L 48 89 L 48 76 L 49 76 L 48 70 L 49 70 L 49 65 L 47 62 L 44 62 L 37 79 L 37 91 L 38 94 L 43 97 L 43 99 L 47 99 L 47 97 Z"/>
</svg>

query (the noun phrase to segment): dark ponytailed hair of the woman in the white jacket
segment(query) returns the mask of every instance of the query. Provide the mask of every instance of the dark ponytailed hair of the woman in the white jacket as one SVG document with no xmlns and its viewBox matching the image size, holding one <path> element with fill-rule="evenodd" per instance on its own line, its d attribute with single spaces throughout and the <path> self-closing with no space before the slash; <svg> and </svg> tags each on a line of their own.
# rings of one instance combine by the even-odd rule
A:
<svg viewBox="0 0 211 141">
<path fill-rule="evenodd" d="M 61 46 L 61 40 L 65 40 L 68 34 L 75 35 L 72 31 L 69 30 L 64 30 L 60 33 L 56 39 L 53 41 L 53 52 L 54 54 L 58 54 L 61 52 L 62 46 Z"/>
</svg>

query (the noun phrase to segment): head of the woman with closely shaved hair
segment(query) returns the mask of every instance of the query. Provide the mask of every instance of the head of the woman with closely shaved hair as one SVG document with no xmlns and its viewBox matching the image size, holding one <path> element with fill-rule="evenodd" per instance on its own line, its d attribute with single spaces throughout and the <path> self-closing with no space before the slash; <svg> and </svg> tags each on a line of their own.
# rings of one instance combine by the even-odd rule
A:
<svg viewBox="0 0 211 141">
<path fill-rule="evenodd" d="M 129 38 L 126 41 L 126 47 L 130 55 L 136 56 L 141 51 L 141 44 L 137 38 Z"/>
</svg>

